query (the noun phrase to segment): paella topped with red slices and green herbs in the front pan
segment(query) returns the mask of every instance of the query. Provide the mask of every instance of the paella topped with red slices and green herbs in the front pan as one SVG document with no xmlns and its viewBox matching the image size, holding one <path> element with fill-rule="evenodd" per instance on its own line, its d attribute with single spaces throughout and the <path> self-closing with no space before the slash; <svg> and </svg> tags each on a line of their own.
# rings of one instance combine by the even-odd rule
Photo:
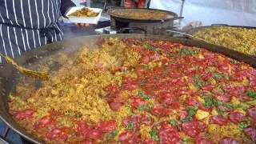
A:
<svg viewBox="0 0 256 144">
<path fill-rule="evenodd" d="M 254 143 L 256 70 L 180 43 L 104 38 L 20 82 L 10 114 L 46 143 Z M 47 70 L 47 67 L 42 67 Z"/>
</svg>

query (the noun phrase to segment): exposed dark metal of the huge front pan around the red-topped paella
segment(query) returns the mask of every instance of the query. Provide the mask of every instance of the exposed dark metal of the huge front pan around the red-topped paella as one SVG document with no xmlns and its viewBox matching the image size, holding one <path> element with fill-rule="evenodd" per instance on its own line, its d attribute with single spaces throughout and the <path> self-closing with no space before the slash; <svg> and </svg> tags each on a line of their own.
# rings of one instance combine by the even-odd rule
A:
<svg viewBox="0 0 256 144">
<path fill-rule="evenodd" d="M 15 58 L 15 62 L 18 62 L 19 65 L 28 65 L 30 66 L 37 65 L 38 62 L 45 62 L 46 58 L 54 53 L 59 52 L 61 50 L 72 51 L 78 50 L 86 43 L 92 43 L 99 38 L 109 38 L 109 37 L 117 37 L 117 38 L 150 38 L 150 39 L 159 39 L 166 40 L 171 42 L 179 42 L 183 45 L 187 46 L 198 46 L 202 48 L 206 48 L 207 50 L 218 52 L 225 54 L 230 58 L 234 58 L 238 61 L 247 62 L 250 66 L 256 67 L 256 59 L 252 58 L 246 54 L 241 54 L 237 51 L 226 49 L 222 46 L 215 46 L 205 42 L 198 42 L 190 39 L 184 38 L 171 38 L 166 36 L 155 36 L 155 35 L 138 35 L 138 34 L 115 34 L 115 35 L 102 35 L 102 36 L 90 36 L 90 37 L 82 37 L 82 38 L 74 38 L 68 39 L 62 42 L 55 42 L 50 45 L 42 46 L 38 49 L 31 50 L 30 52 Z M 50 68 L 50 70 L 58 69 L 58 62 L 54 63 L 54 66 Z M 18 82 L 18 78 L 20 78 L 20 74 L 18 74 L 17 70 L 14 66 L 10 64 L 6 64 L 0 68 L 0 116 L 4 122 L 11 129 L 21 134 L 22 137 L 28 139 L 30 142 L 34 143 L 43 143 L 42 140 L 38 138 L 34 138 L 31 134 L 27 133 L 21 126 L 18 125 L 17 122 L 11 117 L 8 113 L 8 95 L 13 93 L 15 90 L 15 86 Z"/>
</svg>

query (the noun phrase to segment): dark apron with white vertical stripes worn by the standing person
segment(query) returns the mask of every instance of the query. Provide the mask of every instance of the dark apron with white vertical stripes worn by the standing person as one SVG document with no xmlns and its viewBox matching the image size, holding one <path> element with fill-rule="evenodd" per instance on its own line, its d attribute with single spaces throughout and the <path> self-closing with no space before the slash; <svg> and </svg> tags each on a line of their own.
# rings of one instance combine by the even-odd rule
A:
<svg viewBox="0 0 256 144">
<path fill-rule="evenodd" d="M 0 53 L 15 58 L 62 40 L 60 7 L 61 0 L 0 0 Z"/>
</svg>

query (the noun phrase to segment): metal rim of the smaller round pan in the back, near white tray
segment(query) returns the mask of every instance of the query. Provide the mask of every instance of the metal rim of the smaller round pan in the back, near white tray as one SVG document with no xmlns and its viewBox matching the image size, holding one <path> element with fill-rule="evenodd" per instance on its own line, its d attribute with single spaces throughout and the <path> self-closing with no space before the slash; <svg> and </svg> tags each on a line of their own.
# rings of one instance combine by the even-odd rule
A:
<svg viewBox="0 0 256 144">
<path fill-rule="evenodd" d="M 135 19 L 135 18 L 122 18 L 114 15 L 114 12 L 121 12 L 122 10 L 145 10 L 143 8 L 112 8 L 110 10 L 107 10 L 107 14 L 110 14 L 110 18 L 114 18 L 115 20 L 119 22 L 137 22 L 137 23 L 157 23 L 157 22 L 166 22 L 166 21 L 171 21 L 171 20 L 177 20 L 181 19 L 183 17 L 178 17 L 178 14 L 171 12 L 171 11 L 166 11 L 166 10 L 157 10 L 157 9 L 146 9 L 146 10 L 152 10 L 152 11 L 162 11 L 168 13 L 167 18 L 164 19 Z"/>
</svg>

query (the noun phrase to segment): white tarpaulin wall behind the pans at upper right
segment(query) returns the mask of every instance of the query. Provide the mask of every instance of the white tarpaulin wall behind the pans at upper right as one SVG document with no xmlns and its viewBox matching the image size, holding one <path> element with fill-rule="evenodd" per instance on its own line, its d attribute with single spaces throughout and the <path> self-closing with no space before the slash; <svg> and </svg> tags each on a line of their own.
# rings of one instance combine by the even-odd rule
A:
<svg viewBox="0 0 256 144">
<path fill-rule="evenodd" d="M 182 0 L 151 0 L 150 8 L 179 14 Z M 256 26 L 256 0 L 185 0 L 182 25 L 200 21 L 202 25 L 222 23 Z"/>
</svg>

